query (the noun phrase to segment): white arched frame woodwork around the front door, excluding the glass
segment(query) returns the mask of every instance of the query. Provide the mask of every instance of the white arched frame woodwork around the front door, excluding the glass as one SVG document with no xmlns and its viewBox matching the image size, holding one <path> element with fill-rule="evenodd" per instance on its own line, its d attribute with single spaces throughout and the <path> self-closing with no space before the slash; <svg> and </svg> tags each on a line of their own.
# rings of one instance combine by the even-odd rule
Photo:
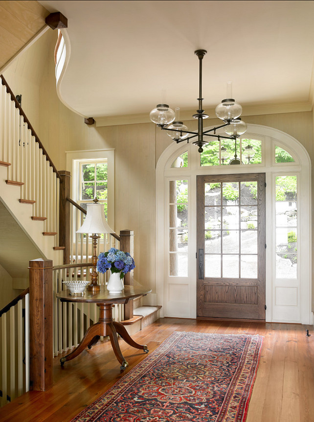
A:
<svg viewBox="0 0 314 422">
<path fill-rule="evenodd" d="M 206 128 L 207 129 L 207 128 Z M 208 127 L 209 129 L 209 127 Z M 166 294 L 168 291 L 167 279 L 167 256 L 165 245 L 167 245 L 167 211 L 166 211 L 166 192 L 169 180 L 184 179 L 189 180 L 189 213 L 196 215 L 196 176 L 200 174 L 232 174 L 232 173 L 266 173 L 266 183 L 269 188 L 266 192 L 266 321 L 267 322 L 298 322 L 302 324 L 313 323 L 313 313 L 311 311 L 312 298 L 312 233 L 309 227 L 311 224 L 311 161 L 308 152 L 304 146 L 295 138 L 287 133 L 273 129 L 267 126 L 248 124 L 247 138 L 262 139 L 263 145 L 263 164 L 250 164 L 239 166 L 206 166 L 201 167 L 198 164 L 199 153 L 195 145 L 182 145 L 171 143 L 160 155 L 156 166 L 156 293 L 157 304 L 162 305 L 161 316 L 178 316 L 184 318 L 196 318 L 196 235 L 189 239 L 190 248 L 190 267 L 191 276 L 186 278 L 186 286 L 189 297 L 181 307 L 184 307 L 183 314 L 169 314 L 166 304 Z M 275 163 L 275 144 L 286 149 L 295 158 L 295 163 Z M 189 165 L 182 168 L 171 168 L 173 161 L 184 151 L 189 152 Z M 299 212 L 302 214 L 300 227 L 300 238 L 302 237 L 302 253 L 299 253 L 299 271 L 300 271 L 300 317 L 298 320 L 290 320 L 286 317 L 278 316 L 278 305 L 276 305 L 274 282 L 274 258 L 273 250 L 273 228 L 272 219 L 274 215 L 273 200 L 273 180 L 275 175 L 297 173 L 299 175 Z M 196 221 L 196 218 L 195 218 Z M 269 224 L 270 222 L 270 224 Z M 196 233 L 196 222 L 192 221 L 189 225 L 190 233 Z M 194 255 L 194 259 L 193 259 Z M 178 282 L 178 288 L 180 285 Z M 171 307 L 171 304 L 170 304 Z M 177 309 L 180 304 L 177 304 Z M 276 314 L 277 312 L 277 314 Z"/>
</svg>

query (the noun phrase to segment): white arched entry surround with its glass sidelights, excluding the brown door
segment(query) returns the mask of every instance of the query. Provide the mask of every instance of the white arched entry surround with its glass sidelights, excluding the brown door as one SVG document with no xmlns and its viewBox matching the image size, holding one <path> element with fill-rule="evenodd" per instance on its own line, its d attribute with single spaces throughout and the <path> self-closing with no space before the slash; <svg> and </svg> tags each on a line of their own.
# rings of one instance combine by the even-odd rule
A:
<svg viewBox="0 0 314 422">
<path fill-rule="evenodd" d="M 197 315 L 197 176 L 265 173 L 266 321 L 311 324 L 310 158 L 297 140 L 269 127 L 249 124 L 246 140 L 260 142 L 259 162 L 221 165 L 219 156 L 211 165 L 202 165 L 193 144 L 173 143 L 160 156 L 156 168 L 158 304 L 163 305 L 164 316 Z M 279 160 L 279 156 L 288 158 Z M 250 227 L 254 230 L 253 226 L 243 230 Z"/>
</svg>

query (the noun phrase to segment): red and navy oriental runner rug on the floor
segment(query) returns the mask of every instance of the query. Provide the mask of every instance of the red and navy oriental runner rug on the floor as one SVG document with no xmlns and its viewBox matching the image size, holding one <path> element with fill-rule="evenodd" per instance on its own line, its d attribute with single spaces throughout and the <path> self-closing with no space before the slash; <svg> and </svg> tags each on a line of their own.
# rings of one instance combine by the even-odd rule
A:
<svg viewBox="0 0 314 422">
<path fill-rule="evenodd" d="M 71 422 L 244 422 L 262 342 L 174 332 Z"/>
</svg>

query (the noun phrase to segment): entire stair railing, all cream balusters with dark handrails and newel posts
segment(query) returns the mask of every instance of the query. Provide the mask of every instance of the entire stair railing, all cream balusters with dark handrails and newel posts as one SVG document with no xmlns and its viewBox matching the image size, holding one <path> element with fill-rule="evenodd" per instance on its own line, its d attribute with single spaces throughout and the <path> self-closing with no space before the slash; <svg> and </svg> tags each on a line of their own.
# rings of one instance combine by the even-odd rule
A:
<svg viewBox="0 0 314 422">
<path fill-rule="evenodd" d="M 53 354 L 80 342 L 85 330 L 98 320 L 98 308 L 61 305 L 55 297 L 63 288 L 62 281 L 89 276 L 91 242 L 88 235 L 75 233 L 86 211 L 69 198 L 70 174 L 58 172 L 13 92 L 0 77 L 0 161 L 8 167 L 6 182 L 21 186 L 20 202 L 33 204 L 32 218 L 44 221 L 44 234 L 57 234 L 55 245 L 65 248 L 66 264 L 52 270 L 52 261 L 30 261 L 29 294 L 24 291 L 1 311 L 3 405 L 28 391 L 29 386 L 40 391 L 51 386 Z M 133 232 L 105 234 L 99 239 L 97 255 L 111 247 L 133 255 Z M 106 284 L 107 275 L 100 275 L 99 281 Z M 131 273 L 126 274 L 124 282 L 133 284 Z M 133 301 L 115 305 L 116 320 L 132 317 Z"/>
</svg>

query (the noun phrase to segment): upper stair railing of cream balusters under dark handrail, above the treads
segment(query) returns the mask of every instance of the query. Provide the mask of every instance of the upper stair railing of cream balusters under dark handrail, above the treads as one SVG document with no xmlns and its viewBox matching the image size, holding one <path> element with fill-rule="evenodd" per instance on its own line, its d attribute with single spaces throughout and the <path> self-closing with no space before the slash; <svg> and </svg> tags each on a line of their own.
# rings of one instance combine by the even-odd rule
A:
<svg viewBox="0 0 314 422">
<path fill-rule="evenodd" d="M 19 102 L 1 75 L 0 160 L 8 164 L 8 184 L 21 186 L 20 202 L 34 204 L 34 220 L 44 221 L 45 234 L 59 230 L 60 174 Z M 59 245 L 58 235 L 55 245 Z"/>
</svg>

